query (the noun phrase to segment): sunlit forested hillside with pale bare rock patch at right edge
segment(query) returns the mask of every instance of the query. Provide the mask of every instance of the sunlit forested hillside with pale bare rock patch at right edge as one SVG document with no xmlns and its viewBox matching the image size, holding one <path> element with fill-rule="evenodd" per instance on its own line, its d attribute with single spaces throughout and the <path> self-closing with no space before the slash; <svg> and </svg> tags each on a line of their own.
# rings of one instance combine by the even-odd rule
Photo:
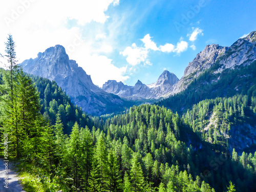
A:
<svg viewBox="0 0 256 192">
<path fill-rule="evenodd" d="M 183 114 L 194 132 L 202 139 L 220 144 L 232 152 L 256 150 L 256 97 L 236 95 L 206 99 Z"/>
</svg>

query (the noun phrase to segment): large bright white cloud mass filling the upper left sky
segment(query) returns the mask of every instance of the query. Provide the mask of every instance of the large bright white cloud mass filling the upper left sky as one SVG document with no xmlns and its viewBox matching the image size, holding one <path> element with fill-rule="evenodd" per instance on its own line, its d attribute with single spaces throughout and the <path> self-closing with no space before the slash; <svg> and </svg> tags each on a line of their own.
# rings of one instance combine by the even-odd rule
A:
<svg viewBox="0 0 256 192">
<path fill-rule="evenodd" d="M 129 76 L 125 75 L 125 67 L 118 68 L 111 59 L 100 55 L 113 51 L 116 28 L 105 30 L 102 24 L 109 18 L 105 13 L 109 6 L 117 5 L 119 0 L 1 1 L 0 53 L 4 53 L 4 42 L 11 33 L 19 62 L 59 44 L 98 86 L 109 79 L 126 80 Z M 71 19 L 76 27 L 70 27 Z M 96 27 L 84 30 L 85 25 Z"/>
</svg>

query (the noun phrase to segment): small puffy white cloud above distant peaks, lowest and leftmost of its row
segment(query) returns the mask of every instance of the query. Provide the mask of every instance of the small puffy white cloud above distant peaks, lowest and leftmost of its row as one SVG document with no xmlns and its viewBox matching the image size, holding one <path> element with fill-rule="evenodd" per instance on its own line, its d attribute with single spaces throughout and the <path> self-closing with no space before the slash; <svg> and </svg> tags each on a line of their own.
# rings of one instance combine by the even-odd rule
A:
<svg viewBox="0 0 256 192">
<path fill-rule="evenodd" d="M 120 54 L 127 56 L 126 61 L 132 66 L 148 61 L 148 51 L 145 48 L 138 48 L 135 43 L 132 44 L 132 47 L 126 47 Z"/>
</svg>

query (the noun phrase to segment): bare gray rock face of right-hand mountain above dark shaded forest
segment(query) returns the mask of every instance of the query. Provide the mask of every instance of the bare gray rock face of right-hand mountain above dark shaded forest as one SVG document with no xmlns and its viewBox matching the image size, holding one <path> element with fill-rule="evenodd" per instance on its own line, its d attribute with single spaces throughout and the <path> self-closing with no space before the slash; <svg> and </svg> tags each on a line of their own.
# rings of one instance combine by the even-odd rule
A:
<svg viewBox="0 0 256 192">
<path fill-rule="evenodd" d="M 179 93 L 196 77 L 202 74 L 205 69 L 219 64 L 213 73 L 221 73 L 224 69 L 234 69 L 236 66 L 250 65 L 256 60 L 256 32 L 251 32 L 247 37 L 238 39 L 230 47 L 219 45 L 207 45 L 205 49 L 198 53 L 196 58 L 188 63 L 184 71 L 184 76 L 174 85 L 173 91 L 169 95 Z"/>
</svg>

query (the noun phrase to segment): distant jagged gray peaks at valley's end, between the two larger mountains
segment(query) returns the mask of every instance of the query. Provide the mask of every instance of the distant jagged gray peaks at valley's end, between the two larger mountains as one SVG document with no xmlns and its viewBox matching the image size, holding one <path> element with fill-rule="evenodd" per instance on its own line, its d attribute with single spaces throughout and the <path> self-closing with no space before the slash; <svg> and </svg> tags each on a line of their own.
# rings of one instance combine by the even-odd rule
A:
<svg viewBox="0 0 256 192">
<path fill-rule="evenodd" d="M 122 82 L 109 80 L 103 84 L 102 89 L 106 92 L 116 94 L 129 99 L 158 99 L 172 91 L 178 82 L 175 74 L 165 70 L 155 83 L 145 85 L 140 80 L 132 86 L 125 86 Z"/>
</svg>

